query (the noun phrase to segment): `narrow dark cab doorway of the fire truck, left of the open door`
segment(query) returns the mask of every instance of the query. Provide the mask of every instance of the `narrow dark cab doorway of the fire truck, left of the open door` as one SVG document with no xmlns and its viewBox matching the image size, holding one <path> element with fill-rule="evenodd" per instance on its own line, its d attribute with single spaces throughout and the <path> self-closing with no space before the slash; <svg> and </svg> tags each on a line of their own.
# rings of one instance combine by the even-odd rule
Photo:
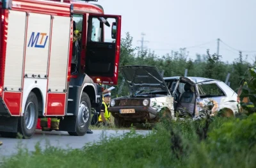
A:
<svg viewBox="0 0 256 168">
<path fill-rule="evenodd" d="M 74 14 L 73 17 L 73 51 L 71 62 L 71 73 L 76 74 L 78 71 L 79 57 L 81 55 L 81 35 L 83 30 L 83 15 Z"/>
</svg>

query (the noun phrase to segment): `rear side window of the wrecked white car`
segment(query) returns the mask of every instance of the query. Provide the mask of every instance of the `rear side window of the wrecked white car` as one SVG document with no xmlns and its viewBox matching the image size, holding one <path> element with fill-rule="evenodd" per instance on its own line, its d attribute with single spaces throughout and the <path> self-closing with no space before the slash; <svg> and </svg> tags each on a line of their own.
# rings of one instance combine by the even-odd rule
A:
<svg viewBox="0 0 256 168">
<path fill-rule="evenodd" d="M 204 95 L 200 96 L 209 96 L 209 97 L 216 97 L 216 96 L 225 96 L 225 93 L 219 88 L 219 86 L 215 83 L 212 84 L 200 84 L 200 88 L 202 89 L 202 93 Z"/>
</svg>

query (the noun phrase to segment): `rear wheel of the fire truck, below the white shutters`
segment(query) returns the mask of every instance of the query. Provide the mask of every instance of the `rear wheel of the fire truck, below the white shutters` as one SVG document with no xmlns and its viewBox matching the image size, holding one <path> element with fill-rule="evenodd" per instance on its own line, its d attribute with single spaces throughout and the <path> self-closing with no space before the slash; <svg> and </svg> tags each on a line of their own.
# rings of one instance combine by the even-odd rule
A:
<svg viewBox="0 0 256 168">
<path fill-rule="evenodd" d="M 30 139 L 36 130 L 38 119 L 38 100 L 35 93 L 29 93 L 23 116 L 19 118 L 18 132 L 24 139 Z"/>
</svg>

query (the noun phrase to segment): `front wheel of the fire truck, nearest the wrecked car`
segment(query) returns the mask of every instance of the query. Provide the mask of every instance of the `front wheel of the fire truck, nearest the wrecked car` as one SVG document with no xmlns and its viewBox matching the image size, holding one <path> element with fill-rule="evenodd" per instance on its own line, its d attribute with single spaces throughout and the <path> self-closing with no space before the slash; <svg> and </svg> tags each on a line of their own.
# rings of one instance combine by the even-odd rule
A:
<svg viewBox="0 0 256 168">
<path fill-rule="evenodd" d="M 86 134 L 91 121 L 92 107 L 87 93 L 82 93 L 79 110 L 76 117 L 76 132 L 68 132 L 69 135 L 83 136 Z"/>
</svg>

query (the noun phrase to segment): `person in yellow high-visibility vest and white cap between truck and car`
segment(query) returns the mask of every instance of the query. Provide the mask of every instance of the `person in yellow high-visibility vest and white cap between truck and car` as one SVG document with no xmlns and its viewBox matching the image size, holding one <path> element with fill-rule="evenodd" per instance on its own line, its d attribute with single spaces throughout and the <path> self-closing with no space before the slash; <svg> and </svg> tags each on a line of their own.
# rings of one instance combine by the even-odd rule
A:
<svg viewBox="0 0 256 168">
<path fill-rule="evenodd" d="M 99 116 L 99 122 L 103 123 L 104 126 L 108 126 L 108 121 L 110 119 L 111 113 L 108 111 L 109 103 L 110 103 L 111 93 L 107 93 L 104 95 L 104 100 L 101 105 L 100 109 L 100 116 Z"/>
</svg>

